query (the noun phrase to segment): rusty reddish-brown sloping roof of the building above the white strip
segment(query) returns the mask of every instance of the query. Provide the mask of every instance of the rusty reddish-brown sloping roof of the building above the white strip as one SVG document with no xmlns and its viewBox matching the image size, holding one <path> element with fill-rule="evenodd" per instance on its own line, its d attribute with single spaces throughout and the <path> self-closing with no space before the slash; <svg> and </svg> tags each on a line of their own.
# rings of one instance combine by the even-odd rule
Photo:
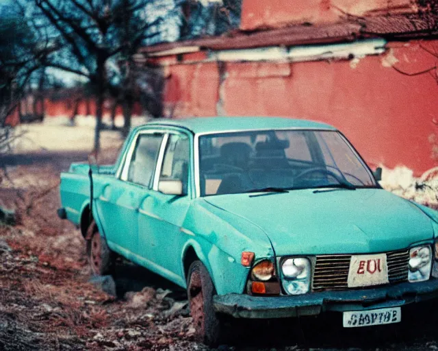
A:
<svg viewBox="0 0 438 351">
<path fill-rule="evenodd" d="M 142 62 L 151 56 L 168 56 L 203 50 L 252 49 L 270 46 L 296 46 L 352 42 L 359 38 L 422 38 L 438 34 L 438 16 L 427 14 L 386 14 L 328 25 L 291 25 L 278 29 L 245 32 L 237 29 L 222 36 L 143 47 L 135 56 Z M 184 50 L 185 49 L 185 50 Z"/>
</svg>

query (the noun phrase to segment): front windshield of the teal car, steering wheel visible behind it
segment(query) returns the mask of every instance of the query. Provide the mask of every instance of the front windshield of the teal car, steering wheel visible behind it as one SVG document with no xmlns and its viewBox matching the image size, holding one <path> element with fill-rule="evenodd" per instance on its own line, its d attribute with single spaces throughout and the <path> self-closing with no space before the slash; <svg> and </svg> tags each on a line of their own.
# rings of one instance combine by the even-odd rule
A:
<svg viewBox="0 0 438 351">
<path fill-rule="evenodd" d="M 199 138 L 201 196 L 375 187 L 368 167 L 337 131 L 260 130 Z"/>
</svg>

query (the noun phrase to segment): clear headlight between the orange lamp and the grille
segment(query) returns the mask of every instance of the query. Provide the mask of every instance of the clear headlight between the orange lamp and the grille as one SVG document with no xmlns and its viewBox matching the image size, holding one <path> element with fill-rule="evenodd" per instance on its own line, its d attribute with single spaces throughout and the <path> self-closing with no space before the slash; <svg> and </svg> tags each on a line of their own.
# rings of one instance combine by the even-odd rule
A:
<svg viewBox="0 0 438 351">
<path fill-rule="evenodd" d="M 281 263 L 283 288 L 290 295 L 307 293 L 310 289 L 311 264 L 304 257 L 287 258 Z"/>
</svg>

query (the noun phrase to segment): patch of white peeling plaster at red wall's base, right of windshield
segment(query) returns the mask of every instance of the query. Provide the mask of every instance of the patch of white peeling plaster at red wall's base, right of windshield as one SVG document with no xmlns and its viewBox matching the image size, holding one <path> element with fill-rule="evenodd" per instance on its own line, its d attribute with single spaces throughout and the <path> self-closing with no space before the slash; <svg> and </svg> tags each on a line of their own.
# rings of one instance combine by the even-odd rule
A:
<svg viewBox="0 0 438 351">
<path fill-rule="evenodd" d="M 419 178 L 414 177 L 413 171 L 404 166 L 395 169 L 381 167 L 380 184 L 384 189 L 419 204 L 438 205 L 438 167 L 429 169 Z"/>
</svg>

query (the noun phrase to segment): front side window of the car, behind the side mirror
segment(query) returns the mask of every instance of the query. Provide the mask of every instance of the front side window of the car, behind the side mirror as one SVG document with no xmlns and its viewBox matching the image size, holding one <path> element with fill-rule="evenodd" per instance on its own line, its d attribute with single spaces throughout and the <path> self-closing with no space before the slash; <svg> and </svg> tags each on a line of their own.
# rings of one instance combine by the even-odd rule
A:
<svg viewBox="0 0 438 351">
<path fill-rule="evenodd" d="M 188 136 L 170 134 L 164 154 L 160 180 L 181 180 L 183 193 L 187 193 L 190 143 Z"/>
</svg>

